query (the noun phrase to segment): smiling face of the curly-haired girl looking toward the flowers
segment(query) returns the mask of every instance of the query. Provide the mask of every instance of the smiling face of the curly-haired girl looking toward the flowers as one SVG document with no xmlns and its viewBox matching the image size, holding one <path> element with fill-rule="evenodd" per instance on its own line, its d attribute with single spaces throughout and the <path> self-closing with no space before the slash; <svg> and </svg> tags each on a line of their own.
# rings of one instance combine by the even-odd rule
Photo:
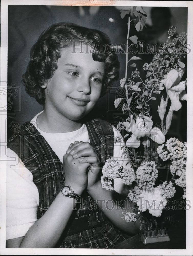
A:
<svg viewBox="0 0 193 256">
<path fill-rule="evenodd" d="M 90 49 L 82 45 L 72 53 L 72 47 L 63 48 L 58 68 L 46 84 L 45 108 L 62 120 L 83 118 L 100 97 L 104 62 L 94 61 Z"/>
</svg>

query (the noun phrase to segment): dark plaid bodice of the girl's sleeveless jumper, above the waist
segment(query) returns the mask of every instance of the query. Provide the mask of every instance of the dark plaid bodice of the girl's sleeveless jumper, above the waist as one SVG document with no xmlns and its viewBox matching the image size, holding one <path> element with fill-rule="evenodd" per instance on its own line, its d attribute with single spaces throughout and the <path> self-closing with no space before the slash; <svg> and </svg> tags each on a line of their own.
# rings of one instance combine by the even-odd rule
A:
<svg viewBox="0 0 193 256">
<path fill-rule="evenodd" d="M 108 122 L 94 119 L 86 123 L 90 143 L 99 155 L 101 167 L 106 159 L 113 156 L 114 132 Z M 14 134 L 7 143 L 33 174 L 33 182 L 39 191 L 39 219 L 49 208 L 52 201 L 61 191 L 65 182 L 63 165 L 44 137 L 30 122 L 22 125 L 19 132 Z M 73 233 L 100 226 L 105 215 L 85 191 L 81 206 L 74 210 L 64 237 Z M 83 230 L 79 230 L 83 227 Z M 62 243 L 62 240 L 61 240 Z"/>
</svg>

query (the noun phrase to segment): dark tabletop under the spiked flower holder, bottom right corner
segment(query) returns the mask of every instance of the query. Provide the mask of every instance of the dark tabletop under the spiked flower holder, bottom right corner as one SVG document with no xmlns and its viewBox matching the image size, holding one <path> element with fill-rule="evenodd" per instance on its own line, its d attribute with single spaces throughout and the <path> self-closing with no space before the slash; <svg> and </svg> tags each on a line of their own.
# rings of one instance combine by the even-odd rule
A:
<svg viewBox="0 0 193 256">
<path fill-rule="evenodd" d="M 144 244 L 141 235 L 137 234 L 127 240 L 117 244 L 116 249 L 186 249 L 186 220 L 182 219 L 167 229 L 170 241 Z"/>
</svg>

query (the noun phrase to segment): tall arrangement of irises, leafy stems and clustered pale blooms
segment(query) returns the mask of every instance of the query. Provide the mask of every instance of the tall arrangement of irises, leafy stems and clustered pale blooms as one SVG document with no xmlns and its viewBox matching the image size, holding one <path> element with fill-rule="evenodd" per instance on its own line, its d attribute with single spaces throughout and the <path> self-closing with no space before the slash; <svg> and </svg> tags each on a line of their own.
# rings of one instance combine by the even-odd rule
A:
<svg viewBox="0 0 193 256">
<path fill-rule="evenodd" d="M 132 11 L 136 17 L 134 20 L 131 20 Z M 128 15 L 126 45 L 130 41 L 143 47 L 137 36 L 129 36 L 131 22 L 134 22 L 137 31 L 145 26 L 143 8 L 121 10 L 121 17 L 125 15 Z M 183 59 L 186 58 L 186 46 L 187 34 L 177 34 L 172 26 L 168 30 L 168 40 L 159 48 L 159 53 L 149 64 L 143 65 L 145 77 L 133 63 L 141 58 L 132 56 L 128 60 L 127 48 L 125 77 L 120 80 L 121 95 L 125 96 L 114 102 L 115 108 L 121 109 L 125 115 L 125 121 L 119 122 L 117 129 L 123 133 L 123 159 L 127 161 L 125 164 L 125 161 L 108 159 L 102 170 L 101 183 L 108 190 L 113 190 L 116 178 L 121 178 L 128 185 L 127 199 L 136 203 L 138 214 L 124 211 L 123 218 L 127 222 L 138 219 L 142 223 L 141 228 L 146 230 L 158 228 L 157 217 L 162 215 L 177 187 L 183 189 L 182 198 L 186 198 L 186 143 L 177 138 L 170 138 L 165 143 L 174 111 L 181 108 L 182 100 L 187 100 L 187 79 L 181 81 L 185 72 Z M 128 68 L 135 68 L 129 78 Z M 151 116 L 152 101 L 159 102 L 158 123 Z M 116 138 L 117 142 L 119 140 Z"/>
</svg>

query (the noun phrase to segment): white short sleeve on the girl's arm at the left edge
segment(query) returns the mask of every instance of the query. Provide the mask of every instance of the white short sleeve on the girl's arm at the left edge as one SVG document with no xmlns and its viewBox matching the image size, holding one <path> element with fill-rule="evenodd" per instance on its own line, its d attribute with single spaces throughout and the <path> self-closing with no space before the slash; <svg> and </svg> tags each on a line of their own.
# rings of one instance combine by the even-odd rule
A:
<svg viewBox="0 0 193 256">
<path fill-rule="evenodd" d="M 39 205 L 32 173 L 9 148 L 7 156 L 6 240 L 25 236 L 37 221 Z"/>
</svg>

